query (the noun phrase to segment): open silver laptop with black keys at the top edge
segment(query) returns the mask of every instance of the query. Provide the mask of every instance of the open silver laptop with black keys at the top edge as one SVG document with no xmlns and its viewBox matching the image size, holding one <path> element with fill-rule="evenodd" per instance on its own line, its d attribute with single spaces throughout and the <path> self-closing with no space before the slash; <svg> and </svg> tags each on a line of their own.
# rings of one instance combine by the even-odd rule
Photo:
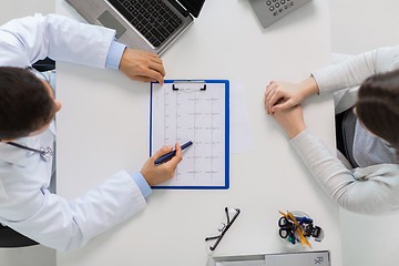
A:
<svg viewBox="0 0 399 266">
<path fill-rule="evenodd" d="M 162 54 L 197 18 L 205 0 L 65 0 L 86 22 L 116 30 L 129 48 Z"/>
</svg>

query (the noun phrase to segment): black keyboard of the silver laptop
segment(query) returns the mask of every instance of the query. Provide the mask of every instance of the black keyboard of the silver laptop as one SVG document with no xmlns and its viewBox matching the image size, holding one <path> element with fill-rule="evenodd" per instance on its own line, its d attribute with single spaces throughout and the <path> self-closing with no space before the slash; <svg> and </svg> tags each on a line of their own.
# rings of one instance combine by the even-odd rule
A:
<svg viewBox="0 0 399 266">
<path fill-rule="evenodd" d="M 108 0 L 155 48 L 183 23 L 162 0 Z"/>
</svg>

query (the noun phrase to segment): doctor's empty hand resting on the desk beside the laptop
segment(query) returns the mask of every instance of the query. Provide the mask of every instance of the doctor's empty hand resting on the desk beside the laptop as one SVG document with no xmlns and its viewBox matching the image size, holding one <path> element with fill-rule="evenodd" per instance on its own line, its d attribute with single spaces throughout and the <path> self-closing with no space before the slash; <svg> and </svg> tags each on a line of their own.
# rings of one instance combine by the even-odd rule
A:
<svg viewBox="0 0 399 266">
<path fill-rule="evenodd" d="M 134 49 L 125 49 L 120 71 L 132 80 L 151 82 L 164 82 L 165 70 L 160 57 L 155 53 L 144 52 Z"/>
</svg>

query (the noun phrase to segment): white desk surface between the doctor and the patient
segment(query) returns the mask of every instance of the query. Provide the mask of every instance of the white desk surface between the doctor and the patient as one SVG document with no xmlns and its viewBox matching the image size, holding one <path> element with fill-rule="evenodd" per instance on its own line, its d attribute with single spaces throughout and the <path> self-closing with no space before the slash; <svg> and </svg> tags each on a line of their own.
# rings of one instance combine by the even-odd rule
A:
<svg viewBox="0 0 399 266">
<path fill-rule="evenodd" d="M 57 4 L 58 13 L 80 19 L 64 1 Z M 206 1 L 200 18 L 162 59 L 166 79 L 241 83 L 255 150 L 232 154 L 229 190 L 155 191 L 143 212 L 80 250 L 59 252 L 58 265 L 206 265 L 204 238 L 229 206 L 242 214 L 214 255 L 291 250 L 277 235 L 277 211 L 300 209 L 325 229 L 325 239 L 314 243 L 314 249 L 329 249 L 332 265 L 340 266 L 338 206 L 263 108 L 270 80 L 297 82 L 329 64 L 328 2 L 310 1 L 263 30 L 247 0 Z M 58 191 L 73 198 L 121 168 L 141 168 L 149 155 L 142 102 L 150 85 L 114 70 L 69 63 L 57 68 L 57 96 L 63 104 L 58 115 Z M 308 126 L 332 149 L 332 100 L 318 96 L 304 105 Z"/>
</svg>

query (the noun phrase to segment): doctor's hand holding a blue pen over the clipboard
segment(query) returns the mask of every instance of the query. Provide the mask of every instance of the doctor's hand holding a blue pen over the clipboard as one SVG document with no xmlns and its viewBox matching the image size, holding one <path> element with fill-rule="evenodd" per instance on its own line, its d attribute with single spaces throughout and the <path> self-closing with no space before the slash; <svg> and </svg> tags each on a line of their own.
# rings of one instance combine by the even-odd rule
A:
<svg viewBox="0 0 399 266">
<path fill-rule="evenodd" d="M 175 144 L 176 155 L 166 163 L 155 165 L 155 161 L 173 151 L 172 146 L 163 146 L 154 155 L 152 155 L 143 165 L 140 173 L 144 176 L 150 186 L 157 185 L 173 177 L 177 164 L 182 161 L 182 149 L 178 143 Z"/>
</svg>

